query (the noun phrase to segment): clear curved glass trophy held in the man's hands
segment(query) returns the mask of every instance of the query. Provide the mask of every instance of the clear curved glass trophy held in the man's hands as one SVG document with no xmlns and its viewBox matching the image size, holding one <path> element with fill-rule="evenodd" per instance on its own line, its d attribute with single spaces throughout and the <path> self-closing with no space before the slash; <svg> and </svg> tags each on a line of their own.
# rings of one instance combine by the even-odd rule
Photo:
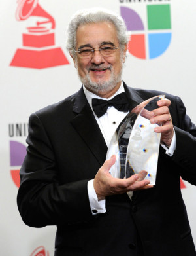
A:
<svg viewBox="0 0 196 256">
<path fill-rule="evenodd" d="M 140 103 L 118 126 L 106 155 L 106 159 L 116 155 L 110 168 L 113 177 L 125 179 L 145 170 L 145 179 L 155 185 L 161 134 L 154 128 L 161 124 L 150 124 L 149 113 L 158 108 L 157 101 L 163 98 L 165 95 L 159 95 Z"/>
</svg>

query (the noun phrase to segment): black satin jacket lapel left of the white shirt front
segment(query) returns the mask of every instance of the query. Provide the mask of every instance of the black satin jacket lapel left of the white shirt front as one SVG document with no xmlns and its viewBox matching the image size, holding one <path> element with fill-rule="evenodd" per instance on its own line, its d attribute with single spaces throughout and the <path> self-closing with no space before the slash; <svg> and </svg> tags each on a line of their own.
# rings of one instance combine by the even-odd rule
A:
<svg viewBox="0 0 196 256">
<path fill-rule="evenodd" d="M 74 117 L 71 124 L 88 145 L 99 164 L 102 165 L 106 158 L 107 146 L 83 89 L 76 95 L 73 111 L 78 115 Z"/>
</svg>

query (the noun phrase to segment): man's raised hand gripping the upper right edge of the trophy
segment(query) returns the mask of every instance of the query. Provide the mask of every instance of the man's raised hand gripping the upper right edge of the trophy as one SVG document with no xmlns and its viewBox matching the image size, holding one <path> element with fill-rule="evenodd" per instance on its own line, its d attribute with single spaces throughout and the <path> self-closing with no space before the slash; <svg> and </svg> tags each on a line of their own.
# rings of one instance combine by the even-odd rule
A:
<svg viewBox="0 0 196 256">
<path fill-rule="evenodd" d="M 161 132 L 161 142 L 165 143 L 167 146 L 171 145 L 172 137 L 174 135 L 172 119 L 169 113 L 170 104 L 171 101 L 168 99 L 159 100 L 157 101 L 159 108 L 150 112 L 151 124 L 162 123 L 162 126 L 154 128 L 154 131 Z"/>
</svg>

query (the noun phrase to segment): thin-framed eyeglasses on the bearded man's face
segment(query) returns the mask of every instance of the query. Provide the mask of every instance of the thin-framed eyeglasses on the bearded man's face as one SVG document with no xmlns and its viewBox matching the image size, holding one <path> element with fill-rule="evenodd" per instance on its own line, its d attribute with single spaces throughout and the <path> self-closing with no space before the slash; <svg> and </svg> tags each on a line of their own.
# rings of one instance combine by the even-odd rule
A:
<svg viewBox="0 0 196 256">
<path fill-rule="evenodd" d="M 99 49 L 93 48 L 82 48 L 81 50 L 74 50 L 74 52 L 78 52 L 78 56 L 80 59 L 88 59 L 92 58 L 95 50 L 99 50 L 103 57 L 111 57 L 114 56 L 118 47 L 101 47 Z"/>
</svg>

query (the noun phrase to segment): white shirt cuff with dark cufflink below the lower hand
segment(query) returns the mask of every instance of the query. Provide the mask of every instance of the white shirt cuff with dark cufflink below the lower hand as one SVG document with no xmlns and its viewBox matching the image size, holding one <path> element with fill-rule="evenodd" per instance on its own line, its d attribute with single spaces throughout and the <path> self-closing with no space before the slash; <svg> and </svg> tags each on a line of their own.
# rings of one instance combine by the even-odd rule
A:
<svg viewBox="0 0 196 256">
<path fill-rule="evenodd" d="M 93 186 L 93 181 L 94 179 L 91 179 L 90 181 L 88 181 L 88 185 L 87 185 L 91 213 L 93 215 L 105 213 L 106 212 L 105 199 L 98 201 L 97 194 Z"/>
</svg>

